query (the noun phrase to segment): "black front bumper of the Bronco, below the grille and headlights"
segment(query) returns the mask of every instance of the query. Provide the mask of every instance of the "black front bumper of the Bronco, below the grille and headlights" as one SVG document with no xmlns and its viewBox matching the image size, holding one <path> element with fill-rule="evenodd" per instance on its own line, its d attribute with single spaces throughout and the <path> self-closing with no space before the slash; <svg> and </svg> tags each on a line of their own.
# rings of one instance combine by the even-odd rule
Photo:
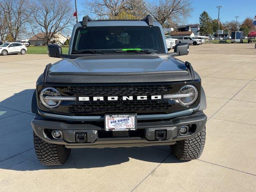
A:
<svg viewBox="0 0 256 192">
<path fill-rule="evenodd" d="M 205 124 L 207 117 L 203 112 L 197 112 L 194 115 L 178 117 L 171 120 L 138 122 L 137 131 L 134 132 L 105 132 L 102 124 L 74 123 L 53 121 L 36 116 L 31 124 L 37 136 L 45 142 L 62 144 L 67 148 L 116 148 L 132 146 L 154 146 L 175 144 L 178 140 L 184 140 L 194 137 L 200 132 Z M 182 136 L 178 133 L 181 126 L 189 126 L 189 131 Z M 52 138 L 51 130 L 60 130 L 62 136 L 60 140 Z M 155 132 L 164 130 L 166 136 L 164 139 L 156 139 Z M 86 141 L 79 143 L 76 141 L 76 133 L 85 133 Z"/>
</svg>

